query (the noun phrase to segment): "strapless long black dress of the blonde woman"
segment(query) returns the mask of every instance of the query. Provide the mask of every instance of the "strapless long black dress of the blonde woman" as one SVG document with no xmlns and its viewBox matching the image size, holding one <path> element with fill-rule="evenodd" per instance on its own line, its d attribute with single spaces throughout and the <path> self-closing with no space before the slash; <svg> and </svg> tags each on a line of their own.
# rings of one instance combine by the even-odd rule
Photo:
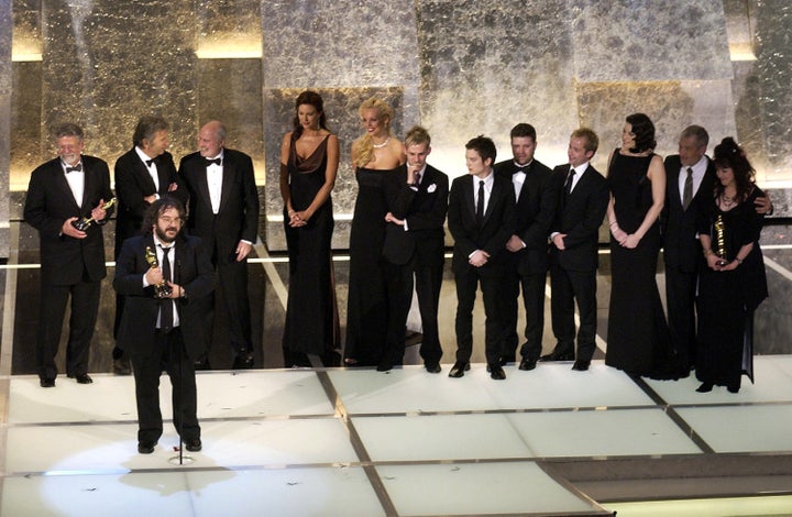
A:
<svg viewBox="0 0 792 517">
<path fill-rule="evenodd" d="M 358 366 L 375 366 L 385 348 L 387 294 L 382 249 L 387 201 L 383 183 L 391 170 L 358 168 L 358 199 L 350 234 L 349 305 L 344 358 Z"/>
</svg>

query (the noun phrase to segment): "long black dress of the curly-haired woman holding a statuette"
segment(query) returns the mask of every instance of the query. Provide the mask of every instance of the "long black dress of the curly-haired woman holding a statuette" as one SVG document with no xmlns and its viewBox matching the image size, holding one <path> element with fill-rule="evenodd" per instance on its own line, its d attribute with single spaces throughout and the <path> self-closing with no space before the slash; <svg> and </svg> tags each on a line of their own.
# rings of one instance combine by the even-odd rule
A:
<svg viewBox="0 0 792 517">
<path fill-rule="evenodd" d="M 734 271 L 716 272 L 706 263 L 700 270 L 696 378 L 703 383 L 739 389 L 744 372 L 754 377 L 754 310 L 768 296 L 759 249 L 763 216 L 754 206 L 754 200 L 763 195 L 755 188 L 748 199 L 726 211 L 708 199 L 708 207 L 700 212 L 698 233 L 713 235 L 713 251 L 718 249 L 713 227 L 721 216 L 727 261 L 734 260 L 743 245 L 754 243 L 751 252 Z"/>
</svg>

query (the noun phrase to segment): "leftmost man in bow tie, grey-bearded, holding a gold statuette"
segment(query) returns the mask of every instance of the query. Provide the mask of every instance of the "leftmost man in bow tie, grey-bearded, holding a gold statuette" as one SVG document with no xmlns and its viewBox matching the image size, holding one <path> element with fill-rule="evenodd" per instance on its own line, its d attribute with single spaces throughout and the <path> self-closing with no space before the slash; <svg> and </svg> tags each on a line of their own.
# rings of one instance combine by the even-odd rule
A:
<svg viewBox="0 0 792 517">
<path fill-rule="evenodd" d="M 31 174 L 24 219 L 38 231 L 41 240 L 41 300 L 36 333 L 36 360 L 42 387 L 54 387 L 55 355 L 66 304 L 72 297 L 72 317 L 66 349 L 66 374 L 80 384 L 88 375 L 88 356 L 99 311 L 105 268 L 101 227 L 111 209 L 110 170 L 107 163 L 82 155 L 82 129 L 66 123 L 54 131 L 58 157 Z M 73 223 L 91 218 L 85 230 Z"/>
</svg>

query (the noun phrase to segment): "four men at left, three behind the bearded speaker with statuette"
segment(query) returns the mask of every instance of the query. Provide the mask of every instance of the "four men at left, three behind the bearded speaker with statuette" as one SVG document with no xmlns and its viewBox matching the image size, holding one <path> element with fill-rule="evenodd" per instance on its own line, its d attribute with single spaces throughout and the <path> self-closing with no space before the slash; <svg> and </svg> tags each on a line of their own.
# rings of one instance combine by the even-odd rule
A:
<svg viewBox="0 0 792 517">
<path fill-rule="evenodd" d="M 166 151 L 168 132 L 162 118 L 140 119 L 132 148 L 116 162 L 113 197 L 107 163 L 82 154 L 81 128 L 55 128 L 58 157 L 33 170 L 24 206 L 41 239 L 36 358 L 45 388 L 55 386 L 69 297 L 66 373 L 92 383 L 89 344 L 107 275 L 102 226 L 118 211 L 113 370 L 134 373 L 141 453 L 153 452 L 163 432 L 163 371 L 174 386 L 174 424 L 187 450 L 201 449 L 195 370 L 209 366 L 213 293 L 222 300 L 233 367 L 254 361 L 245 263 L 258 233 L 252 160 L 227 148 L 224 125 L 210 121 L 198 133 L 198 151 L 177 170 Z"/>
</svg>

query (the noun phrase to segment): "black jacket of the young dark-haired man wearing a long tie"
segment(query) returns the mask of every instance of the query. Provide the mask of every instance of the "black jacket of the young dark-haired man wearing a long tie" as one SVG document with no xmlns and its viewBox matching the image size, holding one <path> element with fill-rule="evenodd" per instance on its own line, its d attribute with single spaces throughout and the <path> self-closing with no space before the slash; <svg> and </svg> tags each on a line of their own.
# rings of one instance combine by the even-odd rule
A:
<svg viewBox="0 0 792 517">
<path fill-rule="evenodd" d="M 451 268 L 463 274 L 469 267 L 469 256 L 476 250 L 490 254 L 487 263 L 476 268 L 481 274 L 499 274 L 496 271 L 504 262 L 506 241 L 515 232 L 515 197 L 512 183 L 495 176 L 490 204 L 484 213 L 484 221 L 479 226 L 473 201 L 473 185 L 479 178 L 466 174 L 451 184 L 449 196 L 448 220 L 449 230 L 454 239 Z"/>
</svg>

